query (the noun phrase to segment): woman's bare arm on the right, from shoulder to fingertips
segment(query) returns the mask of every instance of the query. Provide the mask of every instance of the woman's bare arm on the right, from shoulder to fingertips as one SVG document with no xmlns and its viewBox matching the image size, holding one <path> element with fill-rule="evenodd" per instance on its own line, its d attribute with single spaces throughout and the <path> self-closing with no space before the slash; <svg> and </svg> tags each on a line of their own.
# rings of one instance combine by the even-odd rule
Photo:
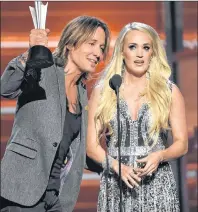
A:
<svg viewBox="0 0 198 212">
<path fill-rule="evenodd" d="M 153 173 L 156 171 L 160 162 L 179 158 L 188 151 L 185 103 L 176 85 L 172 87 L 172 104 L 169 120 L 172 129 L 173 144 L 165 150 L 151 153 L 146 158 L 138 160 L 138 162 L 146 162 L 145 168 L 141 170 L 142 175 Z"/>
</svg>

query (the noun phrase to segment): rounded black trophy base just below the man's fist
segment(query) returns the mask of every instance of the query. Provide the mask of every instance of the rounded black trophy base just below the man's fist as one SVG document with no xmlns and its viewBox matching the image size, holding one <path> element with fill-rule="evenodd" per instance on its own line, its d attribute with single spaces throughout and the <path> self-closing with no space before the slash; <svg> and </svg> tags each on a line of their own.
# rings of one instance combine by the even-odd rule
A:
<svg viewBox="0 0 198 212">
<path fill-rule="evenodd" d="M 51 51 L 41 45 L 30 48 L 26 65 L 28 68 L 48 68 L 54 64 Z"/>
</svg>

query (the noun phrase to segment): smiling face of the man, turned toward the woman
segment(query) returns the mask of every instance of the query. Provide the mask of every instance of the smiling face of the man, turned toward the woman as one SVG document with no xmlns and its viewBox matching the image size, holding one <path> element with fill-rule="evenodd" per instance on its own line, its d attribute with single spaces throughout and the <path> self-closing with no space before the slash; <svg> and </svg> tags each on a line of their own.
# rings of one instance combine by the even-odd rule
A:
<svg viewBox="0 0 198 212">
<path fill-rule="evenodd" d="M 81 72 L 94 72 L 97 64 L 103 60 L 105 48 L 105 32 L 98 27 L 92 37 L 78 48 L 72 47 L 68 59 Z"/>
</svg>

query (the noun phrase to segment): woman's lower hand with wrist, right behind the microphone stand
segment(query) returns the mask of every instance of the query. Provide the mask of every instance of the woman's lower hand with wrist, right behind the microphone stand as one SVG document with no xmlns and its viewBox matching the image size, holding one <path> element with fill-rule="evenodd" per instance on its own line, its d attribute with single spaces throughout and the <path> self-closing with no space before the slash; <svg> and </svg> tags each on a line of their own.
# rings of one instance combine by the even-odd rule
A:
<svg viewBox="0 0 198 212">
<path fill-rule="evenodd" d="M 118 163 L 113 169 L 119 175 Z M 129 188 L 133 188 L 134 186 L 139 187 L 138 183 L 141 181 L 138 174 L 134 172 L 133 167 L 124 164 L 121 164 L 121 178 Z"/>
</svg>

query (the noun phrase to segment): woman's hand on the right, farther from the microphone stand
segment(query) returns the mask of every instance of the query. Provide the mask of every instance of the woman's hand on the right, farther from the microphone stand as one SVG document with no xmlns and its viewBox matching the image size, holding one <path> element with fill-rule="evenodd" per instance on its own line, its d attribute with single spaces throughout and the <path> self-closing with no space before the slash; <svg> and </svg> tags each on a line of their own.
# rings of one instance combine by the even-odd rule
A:
<svg viewBox="0 0 198 212">
<path fill-rule="evenodd" d="M 138 163 L 146 163 L 144 168 L 136 168 L 135 172 L 139 173 L 140 177 L 151 176 L 158 168 L 159 163 L 163 160 L 162 153 L 152 152 L 145 158 L 136 160 Z"/>
</svg>

